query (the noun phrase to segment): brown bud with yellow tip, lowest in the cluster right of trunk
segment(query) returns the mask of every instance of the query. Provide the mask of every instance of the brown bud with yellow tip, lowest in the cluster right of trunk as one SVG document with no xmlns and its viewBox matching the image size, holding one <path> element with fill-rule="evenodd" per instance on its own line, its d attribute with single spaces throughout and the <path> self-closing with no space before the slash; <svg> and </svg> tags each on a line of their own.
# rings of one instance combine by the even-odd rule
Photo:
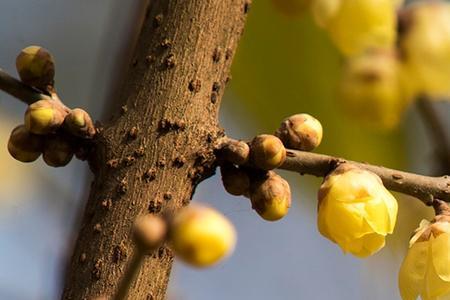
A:
<svg viewBox="0 0 450 300">
<path fill-rule="evenodd" d="M 250 188 L 252 208 L 267 221 L 283 218 L 291 207 L 289 183 L 274 172 L 252 182 Z"/>
</svg>

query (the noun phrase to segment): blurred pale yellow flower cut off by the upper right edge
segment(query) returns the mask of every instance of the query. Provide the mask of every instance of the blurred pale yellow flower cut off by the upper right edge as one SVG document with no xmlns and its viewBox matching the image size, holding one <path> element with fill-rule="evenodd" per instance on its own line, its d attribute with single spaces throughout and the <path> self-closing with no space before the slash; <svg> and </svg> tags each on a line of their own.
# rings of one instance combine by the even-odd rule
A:
<svg viewBox="0 0 450 300">
<path fill-rule="evenodd" d="M 401 13 L 399 48 L 419 93 L 450 96 L 450 4 L 419 1 Z"/>
</svg>

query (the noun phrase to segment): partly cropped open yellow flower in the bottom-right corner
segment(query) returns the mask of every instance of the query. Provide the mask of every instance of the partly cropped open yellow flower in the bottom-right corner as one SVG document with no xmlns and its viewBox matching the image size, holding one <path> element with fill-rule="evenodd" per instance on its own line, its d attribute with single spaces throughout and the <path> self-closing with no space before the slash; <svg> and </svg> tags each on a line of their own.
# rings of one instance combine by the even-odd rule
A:
<svg viewBox="0 0 450 300">
<path fill-rule="evenodd" d="M 410 240 L 399 272 L 403 300 L 450 297 L 450 223 L 437 216 L 433 223 L 422 220 Z M 445 299 L 449 299 L 449 298 Z"/>
</svg>

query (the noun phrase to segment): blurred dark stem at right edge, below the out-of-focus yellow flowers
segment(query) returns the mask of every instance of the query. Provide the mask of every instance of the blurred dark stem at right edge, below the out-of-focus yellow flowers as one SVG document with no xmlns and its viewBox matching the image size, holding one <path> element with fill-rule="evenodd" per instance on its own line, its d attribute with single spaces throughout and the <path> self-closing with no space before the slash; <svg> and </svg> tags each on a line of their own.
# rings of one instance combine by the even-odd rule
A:
<svg viewBox="0 0 450 300">
<path fill-rule="evenodd" d="M 448 140 L 442 118 L 436 110 L 433 101 L 426 96 L 418 97 L 417 107 L 434 142 L 437 161 L 442 171 L 448 173 L 450 172 L 450 141 Z"/>
</svg>

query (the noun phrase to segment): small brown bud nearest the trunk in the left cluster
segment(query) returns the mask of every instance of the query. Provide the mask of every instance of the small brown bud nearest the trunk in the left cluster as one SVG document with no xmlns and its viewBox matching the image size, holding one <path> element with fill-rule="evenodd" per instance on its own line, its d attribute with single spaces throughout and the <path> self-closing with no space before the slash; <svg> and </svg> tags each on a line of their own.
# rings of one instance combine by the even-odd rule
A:
<svg viewBox="0 0 450 300">
<path fill-rule="evenodd" d="M 64 120 L 64 125 L 70 133 L 82 138 L 92 138 L 95 135 L 91 117 L 81 108 L 71 110 Z"/>
</svg>

